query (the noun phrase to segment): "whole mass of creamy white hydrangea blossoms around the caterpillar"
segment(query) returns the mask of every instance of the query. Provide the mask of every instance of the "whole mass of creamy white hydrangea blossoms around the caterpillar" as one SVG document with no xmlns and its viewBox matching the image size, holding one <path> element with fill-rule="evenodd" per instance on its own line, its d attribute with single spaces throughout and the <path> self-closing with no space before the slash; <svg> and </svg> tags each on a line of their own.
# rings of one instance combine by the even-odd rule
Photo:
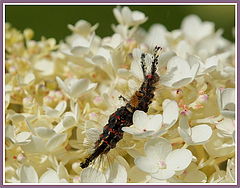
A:
<svg viewBox="0 0 240 188">
<path fill-rule="evenodd" d="M 60 44 L 6 24 L 5 182 L 235 182 L 235 45 L 196 15 L 178 30 L 145 31 L 144 13 L 113 13 L 112 36 L 79 20 Z M 141 85 L 141 53 L 156 45 L 160 81 L 148 113 L 136 111 L 117 147 L 81 169 L 124 105 L 118 97 Z"/>
</svg>

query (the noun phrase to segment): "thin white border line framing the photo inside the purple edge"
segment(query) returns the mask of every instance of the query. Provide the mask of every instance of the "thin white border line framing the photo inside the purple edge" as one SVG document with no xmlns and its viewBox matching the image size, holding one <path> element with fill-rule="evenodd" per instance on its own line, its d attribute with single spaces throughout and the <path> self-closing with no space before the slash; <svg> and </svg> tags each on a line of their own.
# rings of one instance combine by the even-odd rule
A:
<svg viewBox="0 0 240 188">
<path fill-rule="evenodd" d="M 235 62 L 236 62 L 236 68 L 235 68 L 235 81 L 236 81 L 236 89 L 235 89 L 235 100 L 236 100 L 236 104 L 237 104 L 237 84 L 238 84 L 238 80 L 237 80 L 237 47 L 238 47 L 238 36 L 237 36 L 237 30 L 238 30 L 238 25 L 237 25 L 237 15 L 238 15 L 238 9 L 237 9 L 237 3 L 121 3 L 121 2 L 117 2 L 117 3 L 3 3 L 3 59 L 2 59 L 2 62 L 3 62 L 3 72 L 2 72 L 2 75 L 3 75 L 3 114 L 2 114 L 2 117 L 3 117 L 3 148 L 5 147 L 5 6 L 6 5 L 81 5 L 81 6 L 85 6 L 85 5 L 130 5 L 130 6 L 133 6 L 133 5 L 234 5 L 235 6 Z M 236 120 L 235 120 L 235 125 L 236 125 L 236 128 L 237 128 L 237 120 L 238 120 L 238 116 L 237 116 L 237 111 L 238 111 L 238 108 L 236 106 Z M 237 130 L 237 129 L 236 129 Z M 236 139 L 236 143 L 238 141 L 238 137 L 237 137 L 237 131 L 235 131 L 235 139 Z M 202 185 L 202 186 L 208 186 L 208 185 L 218 185 L 218 186 L 223 186 L 223 185 L 237 185 L 237 181 L 238 181 L 238 173 L 237 173 L 237 144 L 236 144 L 236 147 L 235 147 L 235 180 L 236 180 L 236 183 L 168 183 L 168 184 L 165 184 L 165 183 L 5 183 L 5 149 L 3 149 L 3 185 L 20 185 L 20 186 L 24 186 L 24 185 L 65 185 L 65 186 L 68 186 L 68 185 L 72 185 L 72 186 L 77 186 L 77 185 L 165 185 L 165 186 L 171 186 L 171 185 Z"/>
</svg>

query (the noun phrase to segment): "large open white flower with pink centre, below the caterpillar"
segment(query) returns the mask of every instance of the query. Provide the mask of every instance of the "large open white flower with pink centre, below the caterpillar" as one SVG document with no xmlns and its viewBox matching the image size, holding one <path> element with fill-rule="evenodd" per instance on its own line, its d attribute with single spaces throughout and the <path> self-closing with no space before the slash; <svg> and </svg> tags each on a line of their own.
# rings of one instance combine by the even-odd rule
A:
<svg viewBox="0 0 240 188">
<path fill-rule="evenodd" d="M 149 140 L 144 150 L 146 157 L 137 157 L 135 164 L 140 170 L 159 180 L 171 178 L 176 171 L 186 169 L 193 158 L 191 151 L 187 149 L 172 151 L 171 144 L 163 138 Z"/>
</svg>

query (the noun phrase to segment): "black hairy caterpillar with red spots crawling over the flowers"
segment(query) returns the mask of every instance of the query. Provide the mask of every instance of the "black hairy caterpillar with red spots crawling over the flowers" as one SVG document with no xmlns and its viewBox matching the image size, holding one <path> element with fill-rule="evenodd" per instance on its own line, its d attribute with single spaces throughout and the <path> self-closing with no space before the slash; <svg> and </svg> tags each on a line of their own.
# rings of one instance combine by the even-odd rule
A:
<svg viewBox="0 0 240 188">
<path fill-rule="evenodd" d="M 141 54 L 141 67 L 143 71 L 144 81 L 134 95 L 128 101 L 126 105 L 118 108 L 113 114 L 110 115 L 108 123 L 103 127 L 103 131 L 99 136 L 99 139 L 95 142 L 94 151 L 89 155 L 84 162 L 80 163 L 81 168 L 87 168 L 93 160 L 102 154 L 107 154 L 111 149 L 116 147 L 116 144 L 123 138 L 123 127 L 129 127 L 133 124 L 132 117 L 136 110 L 144 112 L 148 111 L 149 105 L 154 97 L 155 85 L 159 81 L 159 75 L 157 74 L 158 64 L 158 51 L 161 47 L 156 46 L 154 48 L 153 61 L 151 63 L 150 73 L 147 74 L 145 65 L 145 53 Z"/>
</svg>

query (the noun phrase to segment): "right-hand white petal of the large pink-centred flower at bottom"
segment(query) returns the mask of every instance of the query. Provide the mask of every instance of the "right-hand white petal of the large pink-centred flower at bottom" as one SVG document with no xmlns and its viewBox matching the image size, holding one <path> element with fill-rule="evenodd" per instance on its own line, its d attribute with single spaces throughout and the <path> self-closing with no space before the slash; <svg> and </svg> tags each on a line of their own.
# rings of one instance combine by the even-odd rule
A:
<svg viewBox="0 0 240 188">
<path fill-rule="evenodd" d="M 192 153 L 188 149 L 176 149 L 166 158 L 167 168 L 180 171 L 188 167 L 192 161 Z"/>
</svg>

